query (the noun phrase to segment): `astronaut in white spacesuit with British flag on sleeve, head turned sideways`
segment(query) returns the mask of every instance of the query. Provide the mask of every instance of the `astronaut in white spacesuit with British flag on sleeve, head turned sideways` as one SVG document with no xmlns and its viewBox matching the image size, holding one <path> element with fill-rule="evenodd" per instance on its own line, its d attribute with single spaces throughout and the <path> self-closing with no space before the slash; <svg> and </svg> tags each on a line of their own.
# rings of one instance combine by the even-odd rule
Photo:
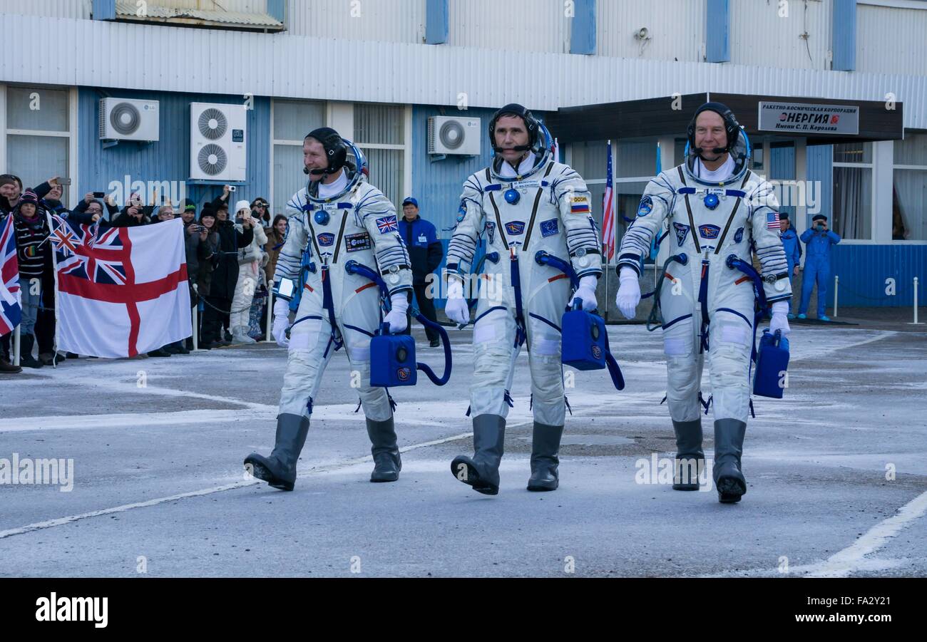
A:
<svg viewBox="0 0 927 642">
<path fill-rule="evenodd" d="M 351 370 L 360 372 L 358 393 L 375 464 L 371 481 L 394 482 L 402 464 L 392 400 L 384 388 L 370 385 L 370 340 L 381 321 L 380 293 L 365 277 L 349 274 L 345 265 L 353 259 L 384 277 L 392 308 L 382 321 L 389 323 L 391 334 L 405 330 L 412 271 L 396 208 L 367 183 L 360 150 L 335 130 L 323 127 L 306 136 L 303 162 L 311 179 L 286 205 L 288 231 L 273 283 L 273 336 L 289 348 L 276 444 L 270 457 L 252 453 L 245 465 L 273 487 L 293 489 L 312 400 L 328 360 L 344 346 Z M 290 325 L 290 300 L 300 286 L 296 320 Z"/>
</svg>

